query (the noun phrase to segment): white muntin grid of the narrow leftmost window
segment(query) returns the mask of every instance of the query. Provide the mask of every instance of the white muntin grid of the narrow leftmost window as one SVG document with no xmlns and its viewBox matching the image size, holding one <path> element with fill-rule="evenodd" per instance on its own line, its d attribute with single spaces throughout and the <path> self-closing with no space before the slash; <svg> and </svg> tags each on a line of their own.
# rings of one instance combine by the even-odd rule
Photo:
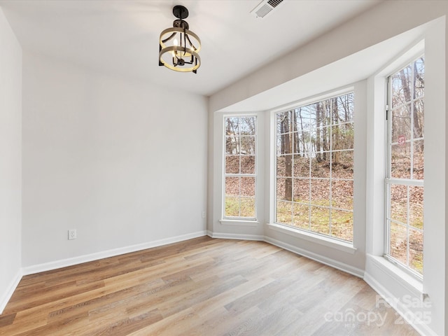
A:
<svg viewBox="0 0 448 336">
<path fill-rule="evenodd" d="M 253 134 L 240 134 L 240 120 L 244 119 L 244 118 L 252 118 L 253 119 L 253 126 L 254 126 L 254 130 L 253 130 Z M 237 119 L 238 120 L 238 129 L 237 129 L 237 135 L 233 135 L 233 137 L 237 137 L 238 138 L 238 144 L 237 144 L 237 152 L 238 153 L 228 153 L 227 151 L 227 139 L 228 137 L 232 137 L 232 135 L 228 135 L 227 134 L 227 127 L 226 127 L 226 121 L 228 119 Z M 223 162 L 223 209 L 222 209 L 222 217 L 223 219 L 228 219 L 228 220 L 244 220 L 244 221 L 256 221 L 256 214 L 257 214 L 257 202 L 256 202 L 256 188 L 257 188 L 257 151 L 258 151 L 258 146 L 257 146 L 257 137 L 258 137 L 258 132 L 257 132 L 257 117 L 255 115 L 244 115 L 244 116 L 223 116 L 223 138 L 224 138 L 224 144 L 223 144 L 223 153 L 224 153 L 224 162 Z M 253 146 L 254 151 L 252 153 L 249 154 L 243 154 L 241 153 L 241 139 L 244 138 L 253 138 Z M 237 156 L 239 158 L 239 173 L 228 173 L 227 172 L 227 165 L 226 165 L 226 158 L 228 158 L 229 156 Z M 253 174 L 247 174 L 247 173 L 241 173 L 241 158 L 248 158 L 248 157 L 253 157 Z M 230 195 L 228 196 L 226 194 L 226 179 L 227 178 L 237 178 L 238 179 L 238 189 L 239 189 L 239 193 L 238 195 Z M 254 179 L 253 183 L 254 183 L 254 194 L 253 197 L 251 196 L 245 196 L 242 195 L 241 193 L 241 178 L 244 177 L 251 177 Z M 226 216 L 226 199 L 227 198 L 237 198 L 238 199 L 238 216 Z M 253 214 L 254 216 L 241 216 L 241 204 L 243 200 L 252 200 L 253 201 Z"/>
</svg>

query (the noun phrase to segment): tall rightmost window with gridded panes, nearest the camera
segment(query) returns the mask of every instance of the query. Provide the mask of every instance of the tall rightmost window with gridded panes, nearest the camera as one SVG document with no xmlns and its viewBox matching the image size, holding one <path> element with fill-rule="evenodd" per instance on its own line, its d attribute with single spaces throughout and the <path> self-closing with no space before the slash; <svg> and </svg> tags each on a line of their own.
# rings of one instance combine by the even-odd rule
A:
<svg viewBox="0 0 448 336">
<path fill-rule="evenodd" d="M 424 58 L 388 78 L 386 256 L 423 274 Z"/>
</svg>

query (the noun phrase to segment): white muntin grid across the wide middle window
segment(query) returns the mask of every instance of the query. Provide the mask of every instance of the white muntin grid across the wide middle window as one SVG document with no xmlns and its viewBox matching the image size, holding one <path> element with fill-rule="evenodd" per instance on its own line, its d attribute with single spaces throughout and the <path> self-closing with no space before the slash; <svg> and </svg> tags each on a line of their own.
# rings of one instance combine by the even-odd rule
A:
<svg viewBox="0 0 448 336">
<path fill-rule="evenodd" d="M 314 122 L 316 122 L 316 115 L 314 115 L 314 118 L 313 118 L 312 114 L 309 113 L 309 110 L 310 110 L 309 106 L 312 106 L 313 104 L 316 104 L 316 103 L 318 104 L 318 103 L 323 103 L 323 102 L 330 102 L 330 99 L 335 99 L 335 98 L 337 98 L 337 105 L 339 106 L 340 104 L 342 104 L 342 103 L 339 102 L 339 99 L 342 99 L 342 97 L 349 97 L 349 96 L 351 96 L 351 104 L 348 103 L 347 100 L 346 100 L 346 103 L 351 105 L 351 111 L 349 111 L 349 115 L 351 117 L 351 121 L 344 122 L 344 123 L 333 123 L 333 113 L 332 113 L 333 111 L 331 111 L 329 120 L 327 120 L 328 118 L 325 118 L 325 120 L 321 120 L 322 123 L 326 122 L 325 125 L 319 126 L 319 127 L 317 127 L 317 126 L 312 127 L 313 120 L 314 120 Z M 348 99 L 348 98 L 346 98 L 346 99 Z M 298 228 L 299 230 L 307 230 L 309 232 L 312 232 L 313 234 L 324 235 L 325 237 L 331 237 L 332 239 L 336 239 L 336 240 L 339 240 L 339 241 L 348 241 L 346 239 L 341 239 L 339 237 L 336 237 L 336 236 L 332 235 L 332 211 L 333 210 L 334 211 L 344 211 L 346 213 L 350 213 L 351 214 L 351 239 L 352 239 L 351 241 L 353 241 L 353 189 L 351 190 L 351 202 L 352 202 L 351 209 L 340 208 L 340 207 L 333 207 L 332 206 L 332 195 L 333 195 L 333 193 L 332 193 L 332 184 L 333 183 L 332 182 L 333 181 L 351 181 L 353 183 L 353 177 L 351 179 L 335 179 L 335 178 L 332 177 L 332 174 L 333 174 L 333 168 L 332 168 L 333 157 L 332 157 L 332 153 L 350 152 L 350 153 L 352 153 L 352 155 L 354 153 L 354 137 L 352 139 L 352 143 L 353 143 L 352 147 L 353 148 L 350 148 L 350 149 L 337 149 L 337 150 L 333 150 L 332 149 L 333 148 L 333 144 L 332 144 L 332 141 L 333 141 L 332 128 L 333 127 L 335 127 L 335 126 L 342 127 L 344 125 L 352 125 L 351 126 L 352 127 L 352 131 L 354 130 L 354 120 L 353 120 L 353 114 L 354 114 L 353 104 L 354 103 L 353 103 L 353 99 L 354 99 L 354 92 L 346 92 L 346 93 L 338 94 L 337 96 L 332 96 L 332 97 L 325 98 L 325 99 L 323 99 L 321 101 L 318 101 L 318 102 L 309 103 L 309 104 L 306 104 L 306 105 L 303 105 L 303 106 L 297 106 L 297 107 L 295 107 L 293 109 L 288 109 L 286 111 L 280 111 L 280 112 L 277 112 L 275 114 L 275 116 L 276 116 L 276 120 L 275 120 L 275 123 L 276 123 L 276 160 L 275 160 L 276 179 L 274 181 L 274 189 L 275 189 L 274 221 L 275 221 L 275 223 L 279 223 L 279 221 L 278 221 L 278 217 L 279 217 L 279 214 L 278 214 L 278 204 L 279 204 L 279 202 L 283 202 L 283 203 L 286 203 L 286 204 L 290 203 L 290 211 L 291 211 L 290 212 L 290 217 L 291 217 L 290 224 L 288 224 L 288 223 L 281 223 L 281 222 L 279 224 L 287 225 L 287 226 L 290 226 L 290 227 L 293 227 L 293 228 L 297 228 L 297 226 L 294 225 L 294 223 L 295 223 L 294 222 L 294 211 L 295 211 L 295 207 L 294 206 L 295 206 L 295 204 L 297 204 L 297 205 L 306 205 L 309 208 L 309 211 L 308 211 L 308 213 L 309 213 L 308 214 L 308 228 L 307 229 Z M 308 146 L 307 146 L 307 148 L 304 148 L 304 151 L 299 151 L 299 152 L 295 153 L 295 151 L 294 151 L 294 148 L 295 148 L 294 141 L 295 141 L 296 137 L 294 137 L 293 134 L 295 134 L 295 133 L 298 134 L 300 131 L 297 130 L 297 131 L 293 131 L 293 132 L 279 132 L 279 118 L 278 117 L 279 117 L 279 115 L 282 115 L 282 114 L 284 115 L 285 113 L 296 112 L 297 109 L 301 109 L 302 107 L 308 108 L 307 111 L 306 111 L 308 113 L 308 118 L 301 118 L 301 122 L 303 122 L 303 120 L 306 120 L 308 123 L 306 124 L 307 127 L 304 127 L 304 129 L 301 130 L 301 131 L 302 132 L 303 131 L 307 131 L 308 132 L 307 140 L 309 140 L 309 141 L 307 143 Z M 339 109 L 338 109 L 338 112 L 339 112 Z M 295 113 L 293 113 L 292 115 L 293 115 L 293 123 L 295 123 L 295 121 L 296 121 L 296 120 L 294 120 Z M 339 116 L 339 113 L 338 113 L 338 116 Z M 316 131 L 318 129 L 319 130 L 325 129 L 325 130 L 327 130 L 327 132 L 329 132 L 329 135 L 328 135 L 329 144 L 328 144 L 328 146 L 329 146 L 330 150 L 325 151 L 325 150 L 321 149 L 321 151 L 317 151 L 317 150 L 314 151 L 314 149 L 310 148 L 312 134 L 316 134 L 317 133 Z M 279 155 L 279 139 L 281 139 L 281 136 L 285 135 L 285 134 L 291 134 L 292 144 L 290 146 L 293 148 L 293 151 L 291 151 L 292 153 L 280 154 Z M 312 159 L 316 158 L 317 154 L 323 155 L 324 153 L 325 154 L 329 154 L 329 165 L 330 165 L 329 177 L 328 178 L 318 178 L 318 177 L 311 176 Z M 277 176 L 277 172 L 278 172 L 278 167 L 277 167 L 278 166 L 278 158 L 282 157 L 282 156 L 286 157 L 287 155 L 290 155 L 292 158 L 294 158 L 295 155 L 299 155 L 299 154 L 305 154 L 305 155 L 309 156 L 309 158 L 308 158 L 308 160 L 309 160 L 309 163 L 308 163 L 308 166 L 309 166 L 308 176 L 302 176 L 300 178 L 297 178 L 297 176 L 295 176 L 295 165 L 294 164 L 292 164 L 293 167 L 292 167 L 292 170 L 291 170 L 291 176 Z M 312 155 L 315 155 L 315 156 L 313 157 Z M 352 165 L 353 165 L 353 161 L 352 161 Z M 353 176 L 353 173 L 352 173 L 352 176 Z M 291 179 L 292 180 L 291 181 L 291 183 L 292 183 L 292 187 L 291 188 L 292 188 L 293 199 L 291 201 L 279 200 L 279 198 L 278 198 L 279 197 L 279 189 L 278 189 L 278 180 L 279 179 Z M 302 179 L 303 181 L 309 181 L 308 202 L 295 202 L 295 200 L 294 200 L 295 179 Z M 323 181 L 328 181 L 329 182 L 329 205 L 328 206 L 322 206 L 322 205 L 314 204 L 312 202 L 312 200 L 311 200 L 312 181 L 318 181 L 318 180 L 323 180 Z M 329 215 L 328 215 L 328 235 L 327 234 L 323 234 L 321 232 L 316 232 L 314 230 L 311 230 L 311 226 L 312 226 L 311 216 L 312 216 L 312 210 L 314 208 L 328 209 L 328 213 L 329 213 Z"/>
</svg>

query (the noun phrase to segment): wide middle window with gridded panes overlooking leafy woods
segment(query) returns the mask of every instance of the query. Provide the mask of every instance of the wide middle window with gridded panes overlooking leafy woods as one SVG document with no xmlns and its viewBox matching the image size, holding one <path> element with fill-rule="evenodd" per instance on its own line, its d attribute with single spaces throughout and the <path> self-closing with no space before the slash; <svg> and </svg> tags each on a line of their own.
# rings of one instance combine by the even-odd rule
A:
<svg viewBox="0 0 448 336">
<path fill-rule="evenodd" d="M 276 223 L 353 241 L 353 92 L 276 113 Z"/>
</svg>

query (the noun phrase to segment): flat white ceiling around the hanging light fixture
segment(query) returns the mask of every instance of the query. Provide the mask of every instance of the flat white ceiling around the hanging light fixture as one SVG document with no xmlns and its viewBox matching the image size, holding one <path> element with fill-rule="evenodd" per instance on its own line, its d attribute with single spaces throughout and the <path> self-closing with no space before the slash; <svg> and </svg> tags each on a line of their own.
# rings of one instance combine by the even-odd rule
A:
<svg viewBox="0 0 448 336">
<path fill-rule="evenodd" d="M 0 0 L 24 50 L 87 69 L 209 96 L 381 0 L 284 0 L 265 18 L 260 0 Z M 160 31 L 186 6 L 202 40 L 197 74 L 158 66 Z"/>
</svg>

